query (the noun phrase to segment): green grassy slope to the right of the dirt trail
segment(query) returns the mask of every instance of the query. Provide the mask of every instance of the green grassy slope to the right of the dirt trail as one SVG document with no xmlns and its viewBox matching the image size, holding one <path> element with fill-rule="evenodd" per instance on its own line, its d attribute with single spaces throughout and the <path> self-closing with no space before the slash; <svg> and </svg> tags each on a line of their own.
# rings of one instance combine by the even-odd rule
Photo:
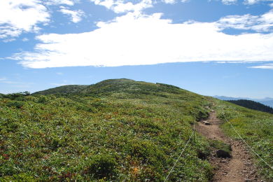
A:
<svg viewBox="0 0 273 182">
<path fill-rule="evenodd" d="M 229 102 L 223 102 L 214 99 L 215 109 L 218 113 L 218 118 L 230 121 L 235 127 L 235 130 L 241 134 L 241 137 L 246 141 L 253 150 L 260 155 L 269 165 L 273 166 L 273 116 L 270 113 L 253 111 L 246 109 Z M 224 113 L 224 114 L 223 114 Z M 224 132 L 235 139 L 239 136 L 232 129 L 230 123 L 222 125 Z M 252 153 L 253 154 L 253 153 Z M 265 162 L 262 162 L 258 157 L 256 165 L 260 170 L 260 174 L 268 181 L 273 180 L 273 170 L 270 169 Z"/>
</svg>

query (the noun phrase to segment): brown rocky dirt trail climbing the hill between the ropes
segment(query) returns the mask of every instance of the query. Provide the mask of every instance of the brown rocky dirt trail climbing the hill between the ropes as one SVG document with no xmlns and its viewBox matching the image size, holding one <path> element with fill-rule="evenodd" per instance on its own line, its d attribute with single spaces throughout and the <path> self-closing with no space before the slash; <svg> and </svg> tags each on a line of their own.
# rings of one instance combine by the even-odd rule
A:
<svg viewBox="0 0 273 182">
<path fill-rule="evenodd" d="M 213 181 L 241 182 L 241 181 L 262 181 L 256 174 L 255 167 L 251 161 L 247 148 L 241 141 L 235 141 L 225 136 L 219 127 L 221 121 L 216 118 L 213 111 L 207 120 L 211 125 L 197 123 L 196 130 L 207 139 L 220 140 L 225 144 L 230 144 L 232 148 L 232 158 L 217 158 L 216 151 L 213 151 L 209 160 L 216 168 Z"/>
</svg>

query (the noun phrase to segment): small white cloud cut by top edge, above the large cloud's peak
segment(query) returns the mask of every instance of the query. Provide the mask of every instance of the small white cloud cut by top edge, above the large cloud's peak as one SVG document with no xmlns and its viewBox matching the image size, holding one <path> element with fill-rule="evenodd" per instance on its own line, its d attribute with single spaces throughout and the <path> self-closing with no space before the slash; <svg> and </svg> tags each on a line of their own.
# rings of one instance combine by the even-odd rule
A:
<svg viewBox="0 0 273 182">
<path fill-rule="evenodd" d="M 145 8 L 153 7 L 152 0 L 138 0 L 138 3 L 127 2 L 125 0 L 90 0 L 96 5 L 104 6 L 108 9 L 113 10 L 115 13 L 125 12 L 140 12 Z"/>
</svg>

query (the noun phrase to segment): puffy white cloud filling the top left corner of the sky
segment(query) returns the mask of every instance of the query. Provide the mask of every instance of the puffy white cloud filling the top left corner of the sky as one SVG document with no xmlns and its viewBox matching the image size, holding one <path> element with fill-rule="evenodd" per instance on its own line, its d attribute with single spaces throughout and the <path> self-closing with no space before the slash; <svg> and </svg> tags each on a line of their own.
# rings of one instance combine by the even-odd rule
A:
<svg viewBox="0 0 273 182">
<path fill-rule="evenodd" d="M 16 37 L 23 31 L 38 30 L 39 23 L 49 22 L 50 14 L 41 1 L 0 1 L 0 38 Z"/>
</svg>

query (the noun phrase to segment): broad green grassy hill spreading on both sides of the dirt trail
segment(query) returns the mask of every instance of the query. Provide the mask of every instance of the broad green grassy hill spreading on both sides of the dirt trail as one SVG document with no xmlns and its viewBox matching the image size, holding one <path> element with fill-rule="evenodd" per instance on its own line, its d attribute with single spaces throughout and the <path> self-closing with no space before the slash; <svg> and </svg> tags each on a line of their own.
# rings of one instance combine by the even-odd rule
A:
<svg viewBox="0 0 273 182">
<path fill-rule="evenodd" d="M 194 116 L 207 118 L 209 107 L 220 118 L 223 109 L 272 164 L 271 114 L 172 85 L 118 79 L 0 98 L 0 181 L 164 181 L 193 132 Z M 169 181 L 209 181 L 212 167 L 200 156 L 210 151 L 197 135 Z"/>
</svg>

